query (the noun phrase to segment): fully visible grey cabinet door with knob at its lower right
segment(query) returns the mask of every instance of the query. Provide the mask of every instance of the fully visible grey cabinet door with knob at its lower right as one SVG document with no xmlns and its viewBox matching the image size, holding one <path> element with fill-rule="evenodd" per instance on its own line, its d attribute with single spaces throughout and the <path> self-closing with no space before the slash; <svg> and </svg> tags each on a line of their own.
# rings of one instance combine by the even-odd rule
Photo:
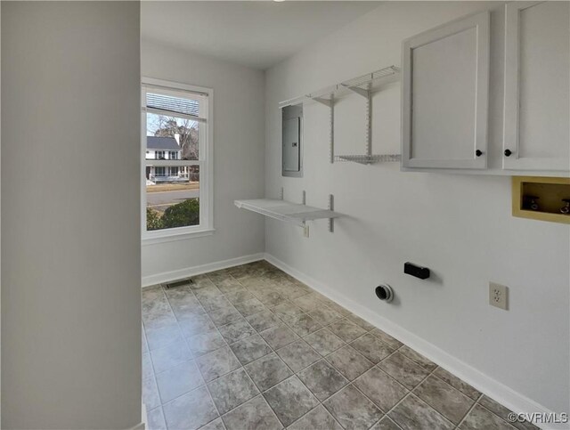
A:
<svg viewBox="0 0 570 430">
<path fill-rule="evenodd" d="M 485 168 L 489 12 L 403 42 L 402 164 Z"/>
</svg>

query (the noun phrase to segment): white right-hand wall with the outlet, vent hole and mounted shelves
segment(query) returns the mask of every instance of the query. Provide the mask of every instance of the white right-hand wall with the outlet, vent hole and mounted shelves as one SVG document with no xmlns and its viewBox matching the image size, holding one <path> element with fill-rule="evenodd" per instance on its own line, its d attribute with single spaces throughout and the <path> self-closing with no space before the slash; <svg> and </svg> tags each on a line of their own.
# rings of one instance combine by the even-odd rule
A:
<svg viewBox="0 0 570 430">
<path fill-rule="evenodd" d="M 568 225 L 512 217 L 509 177 L 403 173 L 397 163 L 330 165 L 329 113 L 318 104 L 305 105 L 305 177 L 281 178 L 278 101 L 400 65 L 403 38 L 485 7 L 388 2 L 267 72 L 266 195 L 278 195 L 283 185 L 286 199 L 299 201 L 306 190 L 307 204 L 323 207 L 333 193 L 335 210 L 348 216 L 336 222 L 334 234 L 325 222 L 315 223 L 309 239 L 296 227 L 268 220 L 266 251 L 487 377 L 562 412 L 570 403 Z M 498 62 L 492 70 L 490 135 L 491 151 L 498 153 L 502 12 L 492 20 Z M 341 101 L 336 112 L 337 153 L 362 152 L 362 98 Z M 373 115 L 374 152 L 399 153 L 399 85 L 374 98 Z M 432 278 L 404 275 L 406 261 L 428 266 Z M 509 286 L 509 312 L 487 304 L 489 280 Z M 395 289 L 393 304 L 374 296 L 382 281 Z"/>
</svg>

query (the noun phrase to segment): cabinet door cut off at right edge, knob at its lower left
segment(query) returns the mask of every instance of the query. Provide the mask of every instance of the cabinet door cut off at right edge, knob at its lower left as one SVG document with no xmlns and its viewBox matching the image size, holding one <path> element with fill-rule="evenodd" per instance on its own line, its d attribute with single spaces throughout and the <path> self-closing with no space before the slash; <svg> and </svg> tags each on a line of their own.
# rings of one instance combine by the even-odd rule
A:
<svg viewBox="0 0 570 430">
<path fill-rule="evenodd" d="M 569 11 L 568 2 L 505 6 L 505 169 L 570 169 Z"/>
</svg>

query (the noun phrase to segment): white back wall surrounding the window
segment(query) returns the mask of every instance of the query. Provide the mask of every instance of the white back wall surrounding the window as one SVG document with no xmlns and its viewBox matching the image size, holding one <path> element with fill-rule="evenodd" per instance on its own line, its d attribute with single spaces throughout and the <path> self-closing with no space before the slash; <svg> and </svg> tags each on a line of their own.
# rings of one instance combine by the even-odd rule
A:
<svg viewBox="0 0 570 430">
<path fill-rule="evenodd" d="M 263 252 L 261 216 L 238 209 L 233 200 L 264 194 L 264 73 L 143 38 L 142 76 L 214 89 L 210 143 L 216 229 L 212 236 L 143 244 L 143 285 L 183 277 L 196 266 Z"/>
</svg>

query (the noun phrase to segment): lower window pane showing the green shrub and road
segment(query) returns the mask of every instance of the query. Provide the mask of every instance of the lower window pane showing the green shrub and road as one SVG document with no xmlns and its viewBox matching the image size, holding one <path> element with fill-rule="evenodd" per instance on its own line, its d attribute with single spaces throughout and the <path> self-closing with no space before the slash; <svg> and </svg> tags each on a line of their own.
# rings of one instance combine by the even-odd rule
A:
<svg viewBox="0 0 570 430">
<path fill-rule="evenodd" d="M 199 224 L 199 166 L 146 166 L 148 231 Z"/>
</svg>

